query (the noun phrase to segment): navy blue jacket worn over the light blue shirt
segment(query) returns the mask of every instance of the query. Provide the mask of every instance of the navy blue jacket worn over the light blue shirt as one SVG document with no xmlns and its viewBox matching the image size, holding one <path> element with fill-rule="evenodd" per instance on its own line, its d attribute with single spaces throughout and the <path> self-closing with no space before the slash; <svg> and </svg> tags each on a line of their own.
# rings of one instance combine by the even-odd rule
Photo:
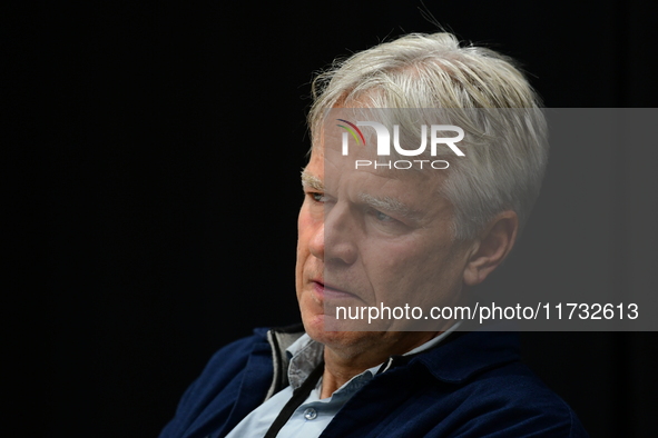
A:
<svg viewBox="0 0 658 438">
<path fill-rule="evenodd" d="M 220 349 L 160 438 L 224 437 L 268 389 L 272 395 L 287 385 L 285 347 L 273 332 L 256 329 Z M 360 389 L 321 437 L 587 437 L 569 406 L 520 362 L 518 350 L 515 334 L 474 331 L 453 334 L 411 358 L 394 357 L 391 369 Z"/>
</svg>

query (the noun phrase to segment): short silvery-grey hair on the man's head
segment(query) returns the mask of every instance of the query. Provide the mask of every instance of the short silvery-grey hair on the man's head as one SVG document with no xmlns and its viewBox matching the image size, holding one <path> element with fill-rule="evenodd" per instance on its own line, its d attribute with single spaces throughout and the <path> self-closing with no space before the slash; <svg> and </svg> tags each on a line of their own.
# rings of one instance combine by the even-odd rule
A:
<svg viewBox="0 0 658 438">
<path fill-rule="evenodd" d="M 467 132 L 460 147 L 468 159 L 451 162 L 440 189 L 455 209 L 455 239 L 477 237 L 504 210 L 526 223 L 548 161 L 548 130 L 540 99 L 512 59 L 461 47 L 450 33 L 412 33 L 334 62 L 313 81 L 313 98 L 314 143 L 331 108 L 443 109 Z"/>
</svg>

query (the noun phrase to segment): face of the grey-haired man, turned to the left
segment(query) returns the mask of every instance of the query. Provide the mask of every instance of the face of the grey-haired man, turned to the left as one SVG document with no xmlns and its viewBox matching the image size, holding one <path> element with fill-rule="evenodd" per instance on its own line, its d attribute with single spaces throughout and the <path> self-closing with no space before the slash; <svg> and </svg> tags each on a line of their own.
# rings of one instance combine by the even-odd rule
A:
<svg viewBox="0 0 658 438">
<path fill-rule="evenodd" d="M 354 169 L 355 159 L 374 159 L 373 148 L 343 156 L 338 135 L 325 131 L 303 172 L 297 300 L 313 339 L 364 348 L 394 338 L 409 321 L 393 321 L 380 332 L 328 331 L 327 303 L 459 305 L 468 247 L 452 239 L 453 209 L 439 192 L 443 170 Z M 436 331 L 450 325 L 436 322 Z M 366 325 L 341 327 L 364 330 Z"/>
</svg>

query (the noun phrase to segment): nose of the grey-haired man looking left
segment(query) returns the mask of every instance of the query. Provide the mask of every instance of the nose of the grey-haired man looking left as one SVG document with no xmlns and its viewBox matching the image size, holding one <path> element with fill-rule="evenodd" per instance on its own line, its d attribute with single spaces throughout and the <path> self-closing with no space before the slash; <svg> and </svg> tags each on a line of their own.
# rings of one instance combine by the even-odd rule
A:
<svg viewBox="0 0 658 438">
<path fill-rule="evenodd" d="M 325 208 L 324 222 L 311 240 L 311 253 L 325 263 L 352 265 L 356 261 L 356 223 L 345 207 Z"/>
</svg>

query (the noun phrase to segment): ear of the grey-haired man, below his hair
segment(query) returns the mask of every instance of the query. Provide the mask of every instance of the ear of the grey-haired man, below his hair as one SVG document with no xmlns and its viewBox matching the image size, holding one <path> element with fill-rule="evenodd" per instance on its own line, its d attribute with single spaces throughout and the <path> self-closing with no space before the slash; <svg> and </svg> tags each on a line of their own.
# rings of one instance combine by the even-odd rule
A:
<svg viewBox="0 0 658 438">
<path fill-rule="evenodd" d="M 514 211 L 499 213 L 474 242 L 464 269 L 464 283 L 475 286 L 484 281 L 510 253 L 519 231 L 519 217 Z"/>
</svg>

